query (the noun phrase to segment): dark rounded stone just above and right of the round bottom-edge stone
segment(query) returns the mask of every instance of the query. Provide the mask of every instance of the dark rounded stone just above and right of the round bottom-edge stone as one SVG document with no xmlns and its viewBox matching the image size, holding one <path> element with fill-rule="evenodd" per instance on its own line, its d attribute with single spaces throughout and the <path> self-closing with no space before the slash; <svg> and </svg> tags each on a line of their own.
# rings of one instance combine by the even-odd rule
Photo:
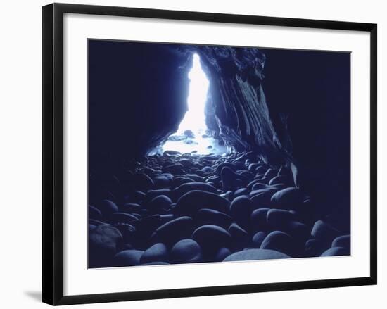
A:
<svg viewBox="0 0 387 309">
<path fill-rule="evenodd" d="M 231 235 L 222 227 L 217 225 L 203 225 L 195 229 L 192 238 L 202 248 L 221 248 L 228 246 L 231 242 Z"/>
</svg>

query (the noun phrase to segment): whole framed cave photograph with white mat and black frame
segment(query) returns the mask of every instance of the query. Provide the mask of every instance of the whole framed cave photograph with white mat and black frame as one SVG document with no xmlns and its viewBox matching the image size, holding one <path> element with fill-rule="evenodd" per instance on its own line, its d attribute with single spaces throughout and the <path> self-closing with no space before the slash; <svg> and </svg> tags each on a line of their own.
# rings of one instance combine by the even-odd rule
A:
<svg viewBox="0 0 387 309">
<path fill-rule="evenodd" d="M 376 24 L 43 7 L 45 303 L 376 277 Z"/>
</svg>

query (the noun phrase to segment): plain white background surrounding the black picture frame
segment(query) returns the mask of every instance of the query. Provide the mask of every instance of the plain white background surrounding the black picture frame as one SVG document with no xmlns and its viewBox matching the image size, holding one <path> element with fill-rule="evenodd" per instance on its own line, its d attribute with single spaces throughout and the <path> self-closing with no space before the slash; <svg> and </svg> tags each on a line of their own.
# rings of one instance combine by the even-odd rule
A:
<svg viewBox="0 0 387 309">
<path fill-rule="evenodd" d="M 386 308 L 387 267 L 383 204 L 386 203 L 387 116 L 386 6 L 383 1 L 62 1 L 186 11 L 239 13 L 292 18 L 378 23 L 379 31 L 379 285 L 309 291 L 284 291 L 77 308 Z M 42 308 L 42 9 L 49 1 L 4 1 L 0 10 L 0 304 L 3 308 Z M 384 142 L 383 142 L 384 141 Z M 4 211 L 5 210 L 5 211 Z"/>
</svg>

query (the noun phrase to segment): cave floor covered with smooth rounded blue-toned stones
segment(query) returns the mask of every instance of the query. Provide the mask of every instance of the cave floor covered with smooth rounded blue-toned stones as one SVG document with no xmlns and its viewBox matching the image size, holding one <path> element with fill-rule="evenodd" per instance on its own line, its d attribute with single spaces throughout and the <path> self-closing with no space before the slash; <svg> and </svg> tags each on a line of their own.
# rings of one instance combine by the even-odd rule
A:
<svg viewBox="0 0 387 309">
<path fill-rule="evenodd" d="M 251 152 L 165 151 L 89 178 L 89 267 L 343 256 L 350 235 Z"/>
</svg>

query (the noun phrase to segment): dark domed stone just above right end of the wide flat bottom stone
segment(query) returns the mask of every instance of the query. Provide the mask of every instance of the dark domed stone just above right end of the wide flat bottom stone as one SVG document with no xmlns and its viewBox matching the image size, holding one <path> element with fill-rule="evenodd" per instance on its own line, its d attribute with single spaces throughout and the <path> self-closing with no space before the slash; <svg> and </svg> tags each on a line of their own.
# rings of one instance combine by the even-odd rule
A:
<svg viewBox="0 0 387 309">
<path fill-rule="evenodd" d="M 270 232 L 262 241 L 260 248 L 279 251 L 289 256 L 297 256 L 300 253 L 300 247 L 295 239 L 281 231 Z"/>
</svg>

